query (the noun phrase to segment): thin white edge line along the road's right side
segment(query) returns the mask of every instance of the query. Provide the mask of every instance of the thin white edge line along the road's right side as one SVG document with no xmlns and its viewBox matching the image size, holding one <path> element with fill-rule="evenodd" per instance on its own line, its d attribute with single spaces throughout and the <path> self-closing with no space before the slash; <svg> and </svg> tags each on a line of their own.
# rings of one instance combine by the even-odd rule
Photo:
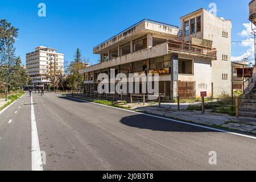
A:
<svg viewBox="0 0 256 182">
<path fill-rule="evenodd" d="M 59 94 L 59 95 L 60 95 L 60 94 Z M 62 95 L 60 95 L 60 96 L 62 96 Z M 64 97 L 64 96 L 62 96 L 62 97 Z M 71 99 L 73 99 L 73 100 L 78 100 L 78 101 L 90 102 L 90 101 L 85 101 L 85 100 L 81 100 L 81 99 L 73 98 L 73 97 L 68 97 L 68 98 L 71 98 Z M 107 106 L 107 105 L 98 104 L 98 103 L 95 103 L 95 102 L 90 102 L 90 103 L 96 104 L 96 105 L 105 106 L 105 107 L 112 107 L 112 108 L 114 108 L 114 109 L 125 110 L 125 111 L 131 112 L 131 113 L 143 114 L 143 115 L 147 115 L 147 116 L 150 116 L 150 117 L 165 119 L 165 120 L 171 121 L 171 122 L 182 123 L 182 124 L 185 124 L 185 125 L 191 125 L 191 126 L 196 126 L 196 127 L 202 127 L 202 128 L 204 128 L 204 129 L 209 129 L 209 130 L 214 130 L 214 131 L 220 131 L 220 132 L 222 132 L 222 133 L 228 133 L 228 134 L 232 134 L 232 135 L 238 135 L 238 136 L 241 136 L 241 137 L 256 139 L 256 137 L 253 137 L 253 136 L 250 136 L 250 135 L 245 135 L 245 134 L 240 134 L 240 133 L 234 133 L 234 132 L 230 132 L 230 131 L 226 131 L 226 130 L 222 130 L 222 129 L 216 129 L 216 128 L 213 128 L 213 127 L 208 127 L 208 126 L 197 125 L 197 124 L 188 123 L 188 122 L 184 122 L 184 121 L 179 121 L 179 120 L 176 120 L 176 119 L 164 118 L 164 117 L 160 117 L 160 116 L 157 116 L 157 115 L 151 115 L 151 114 L 146 114 L 146 113 L 139 113 L 139 112 L 137 112 L 137 111 L 122 109 L 122 108 L 113 107 L 113 106 Z"/>
</svg>

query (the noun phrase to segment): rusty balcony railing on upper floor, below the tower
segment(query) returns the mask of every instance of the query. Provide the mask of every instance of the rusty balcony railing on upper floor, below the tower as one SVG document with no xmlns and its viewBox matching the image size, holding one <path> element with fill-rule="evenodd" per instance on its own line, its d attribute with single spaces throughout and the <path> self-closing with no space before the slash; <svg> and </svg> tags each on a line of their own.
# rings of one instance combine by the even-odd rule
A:
<svg viewBox="0 0 256 182">
<path fill-rule="evenodd" d="M 179 42 L 175 40 L 168 40 L 167 43 L 168 43 L 169 51 L 189 52 L 189 53 L 196 53 L 204 56 L 214 56 L 214 57 L 217 56 L 216 48 L 197 46 L 195 44 Z"/>
</svg>

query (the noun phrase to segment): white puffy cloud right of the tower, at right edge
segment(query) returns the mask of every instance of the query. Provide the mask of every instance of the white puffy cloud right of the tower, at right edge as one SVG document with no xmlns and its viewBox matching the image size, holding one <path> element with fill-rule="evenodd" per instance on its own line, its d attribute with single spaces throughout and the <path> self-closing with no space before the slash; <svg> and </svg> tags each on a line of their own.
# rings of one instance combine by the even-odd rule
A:
<svg viewBox="0 0 256 182">
<path fill-rule="evenodd" d="M 240 43 L 240 46 L 247 47 L 247 50 L 243 52 L 240 56 L 232 56 L 232 61 L 240 61 L 245 57 L 248 57 L 249 60 L 254 60 L 254 38 L 252 38 L 253 35 L 251 34 L 251 32 L 253 32 L 251 30 L 251 23 L 243 23 L 243 26 L 245 27 L 245 29 L 238 33 L 238 35 L 245 38 L 245 40 L 242 40 L 242 42 Z"/>
</svg>

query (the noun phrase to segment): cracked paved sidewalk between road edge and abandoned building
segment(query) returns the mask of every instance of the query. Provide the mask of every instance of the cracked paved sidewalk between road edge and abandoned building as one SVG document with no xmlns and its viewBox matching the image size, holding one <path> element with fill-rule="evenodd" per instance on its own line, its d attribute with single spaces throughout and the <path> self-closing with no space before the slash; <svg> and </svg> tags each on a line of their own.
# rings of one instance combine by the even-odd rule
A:
<svg viewBox="0 0 256 182">
<path fill-rule="evenodd" d="M 86 99 L 82 96 L 73 96 L 76 98 Z M 88 99 L 87 99 L 88 100 Z M 131 110 L 138 112 L 144 112 L 149 114 L 156 114 L 163 117 L 180 119 L 182 121 L 200 123 L 203 125 L 220 127 L 222 129 L 231 129 L 242 131 L 246 133 L 256 134 L 256 118 L 250 117 L 233 117 L 228 114 L 213 113 L 211 111 L 205 110 L 205 113 L 196 110 L 187 110 L 187 107 L 192 103 L 180 104 L 180 111 L 177 110 L 176 103 L 163 103 L 161 107 L 158 104 L 148 104 L 145 103 L 127 103 L 123 106 L 129 106 Z M 193 103 L 197 104 L 197 103 Z M 199 103 L 198 103 L 199 104 Z"/>
</svg>

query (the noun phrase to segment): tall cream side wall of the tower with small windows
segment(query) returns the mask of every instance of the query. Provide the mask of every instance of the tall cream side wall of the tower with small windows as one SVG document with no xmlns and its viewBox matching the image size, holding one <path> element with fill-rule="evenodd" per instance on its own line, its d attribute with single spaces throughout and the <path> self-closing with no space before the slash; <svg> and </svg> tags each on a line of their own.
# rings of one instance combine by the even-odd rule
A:
<svg viewBox="0 0 256 182">
<path fill-rule="evenodd" d="M 204 10 L 204 37 L 213 41 L 217 48 L 217 60 L 212 61 L 213 97 L 221 94 L 231 94 L 231 21 L 222 20 Z M 222 36 L 222 31 L 228 32 L 228 38 Z M 228 60 L 222 60 L 222 55 L 228 55 Z M 222 80 L 222 73 L 228 74 L 228 80 Z"/>
</svg>

